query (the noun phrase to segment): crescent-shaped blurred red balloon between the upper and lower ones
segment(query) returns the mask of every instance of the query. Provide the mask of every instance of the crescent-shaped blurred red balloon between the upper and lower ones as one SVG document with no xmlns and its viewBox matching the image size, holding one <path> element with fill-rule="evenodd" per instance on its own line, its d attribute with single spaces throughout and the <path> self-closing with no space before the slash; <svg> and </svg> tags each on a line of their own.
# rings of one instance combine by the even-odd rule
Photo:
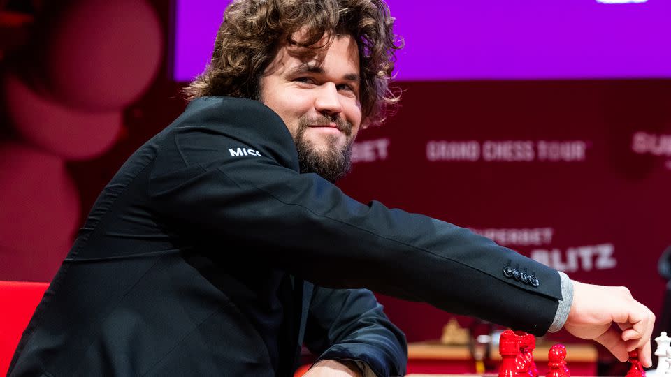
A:
<svg viewBox="0 0 671 377">
<path fill-rule="evenodd" d="M 122 113 L 82 112 L 42 98 L 15 75 L 2 83 L 10 123 L 31 144 L 68 160 L 94 158 L 120 135 Z"/>
</svg>

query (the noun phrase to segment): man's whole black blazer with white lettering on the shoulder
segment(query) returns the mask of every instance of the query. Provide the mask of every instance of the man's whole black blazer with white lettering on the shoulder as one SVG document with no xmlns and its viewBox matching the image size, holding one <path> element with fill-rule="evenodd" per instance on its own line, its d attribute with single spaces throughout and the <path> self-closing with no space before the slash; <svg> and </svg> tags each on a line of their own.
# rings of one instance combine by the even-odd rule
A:
<svg viewBox="0 0 671 377">
<path fill-rule="evenodd" d="M 403 334 L 358 288 L 535 334 L 561 298 L 553 269 L 299 174 L 266 106 L 199 98 L 103 190 L 9 376 L 288 375 L 302 343 L 403 374 Z"/>
</svg>

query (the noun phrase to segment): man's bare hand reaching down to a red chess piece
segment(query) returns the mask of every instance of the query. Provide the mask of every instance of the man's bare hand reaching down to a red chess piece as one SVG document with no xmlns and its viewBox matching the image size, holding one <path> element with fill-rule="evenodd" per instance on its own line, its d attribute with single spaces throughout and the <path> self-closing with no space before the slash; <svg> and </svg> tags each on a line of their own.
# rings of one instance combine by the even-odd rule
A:
<svg viewBox="0 0 671 377">
<path fill-rule="evenodd" d="M 627 288 L 573 281 L 573 304 L 564 328 L 575 337 L 598 341 L 621 362 L 628 360 L 630 350 L 638 349 L 643 366 L 652 365 L 654 323 L 655 315 L 634 300 Z"/>
</svg>

